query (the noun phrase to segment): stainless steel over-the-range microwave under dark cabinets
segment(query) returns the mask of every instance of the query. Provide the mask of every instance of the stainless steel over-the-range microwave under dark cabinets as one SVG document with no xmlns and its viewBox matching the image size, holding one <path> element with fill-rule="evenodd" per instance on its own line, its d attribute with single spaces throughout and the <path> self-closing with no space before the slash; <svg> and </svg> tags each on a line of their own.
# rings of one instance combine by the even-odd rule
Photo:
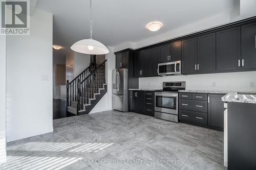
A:
<svg viewBox="0 0 256 170">
<path fill-rule="evenodd" d="M 181 75 L 181 61 L 158 64 L 158 75 Z"/>
</svg>

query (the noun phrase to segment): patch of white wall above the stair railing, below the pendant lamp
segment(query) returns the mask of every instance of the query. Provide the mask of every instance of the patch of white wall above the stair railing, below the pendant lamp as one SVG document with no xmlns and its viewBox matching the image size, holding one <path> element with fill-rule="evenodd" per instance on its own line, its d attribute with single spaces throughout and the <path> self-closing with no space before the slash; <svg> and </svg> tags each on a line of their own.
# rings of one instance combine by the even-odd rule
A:
<svg viewBox="0 0 256 170">
<path fill-rule="evenodd" d="M 74 52 L 74 78 L 90 66 L 90 55 Z"/>
</svg>

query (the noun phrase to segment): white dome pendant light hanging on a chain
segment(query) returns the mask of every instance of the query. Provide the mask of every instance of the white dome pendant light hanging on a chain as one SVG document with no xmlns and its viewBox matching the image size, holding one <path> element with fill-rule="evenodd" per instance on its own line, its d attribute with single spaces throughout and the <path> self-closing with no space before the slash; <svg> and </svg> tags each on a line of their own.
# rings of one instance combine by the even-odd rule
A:
<svg viewBox="0 0 256 170">
<path fill-rule="evenodd" d="M 93 34 L 93 21 L 92 21 L 92 0 L 90 0 L 90 39 L 82 39 L 77 41 L 71 46 L 71 49 L 78 53 L 83 54 L 93 54 L 93 55 L 100 55 L 100 54 L 108 54 L 108 48 L 103 45 L 101 42 L 96 41 L 92 38 Z"/>
</svg>

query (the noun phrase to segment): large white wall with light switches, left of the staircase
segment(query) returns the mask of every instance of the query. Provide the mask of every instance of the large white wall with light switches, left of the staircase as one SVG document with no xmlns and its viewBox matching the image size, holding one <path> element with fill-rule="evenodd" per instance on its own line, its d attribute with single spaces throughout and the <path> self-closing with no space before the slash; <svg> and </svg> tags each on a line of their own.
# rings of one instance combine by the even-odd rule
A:
<svg viewBox="0 0 256 170">
<path fill-rule="evenodd" d="M 52 21 L 35 9 L 30 35 L 7 37 L 7 141 L 53 131 Z"/>
</svg>

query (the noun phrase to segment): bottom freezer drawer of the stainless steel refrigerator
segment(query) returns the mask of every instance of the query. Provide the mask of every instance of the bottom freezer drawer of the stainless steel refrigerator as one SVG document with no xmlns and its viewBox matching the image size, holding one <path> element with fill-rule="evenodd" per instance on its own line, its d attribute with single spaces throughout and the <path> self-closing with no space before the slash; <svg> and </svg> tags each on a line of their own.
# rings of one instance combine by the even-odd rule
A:
<svg viewBox="0 0 256 170">
<path fill-rule="evenodd" d="M 128 99 L 127 95 L 112 94 L 112 109 L 127 112 Z"/>
</svg>

